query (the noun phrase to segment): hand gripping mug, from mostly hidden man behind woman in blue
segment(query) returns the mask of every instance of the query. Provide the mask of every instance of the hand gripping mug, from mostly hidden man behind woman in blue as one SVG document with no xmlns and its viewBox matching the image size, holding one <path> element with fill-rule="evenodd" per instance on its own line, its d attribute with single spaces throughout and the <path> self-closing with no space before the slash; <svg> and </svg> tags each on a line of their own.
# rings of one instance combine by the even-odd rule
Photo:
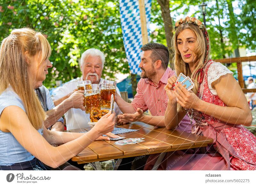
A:
<svg viewBox="0 0 256 186">
<path fill-rule="evenodd" d="M 68 101 L 72 104 L 72 108 L 80 108 L 85 111 L 84 107 L 84 90 L 75 91 L 68 97 Z"/>
</svg>

